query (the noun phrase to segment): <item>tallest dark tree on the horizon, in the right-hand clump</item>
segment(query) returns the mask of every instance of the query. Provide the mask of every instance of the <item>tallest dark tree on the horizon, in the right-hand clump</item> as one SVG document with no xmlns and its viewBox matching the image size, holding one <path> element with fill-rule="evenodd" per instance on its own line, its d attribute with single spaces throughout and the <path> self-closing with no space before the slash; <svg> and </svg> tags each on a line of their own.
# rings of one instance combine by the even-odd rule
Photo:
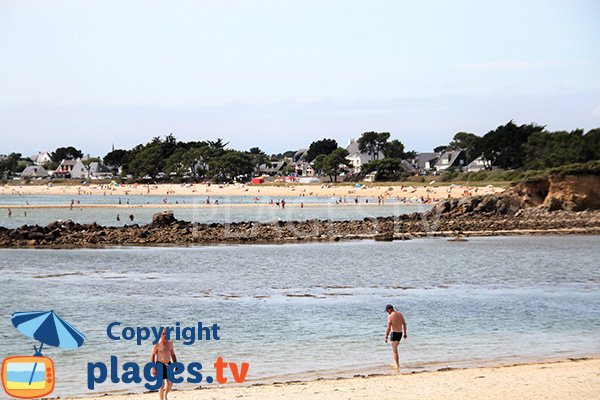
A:
<svg viewBox="0 0 600 400">
<path fill-rule="evenodd" d="M 529 136 L 542 132 L 543 126 L 536 124 L 516 125 L 509 121 L 506 125 L 490 131 L 481 140 L 481 151 L 492 165 L 504 169 L 523 168 L 525 151 L 523 145 Z"/>
</svg>

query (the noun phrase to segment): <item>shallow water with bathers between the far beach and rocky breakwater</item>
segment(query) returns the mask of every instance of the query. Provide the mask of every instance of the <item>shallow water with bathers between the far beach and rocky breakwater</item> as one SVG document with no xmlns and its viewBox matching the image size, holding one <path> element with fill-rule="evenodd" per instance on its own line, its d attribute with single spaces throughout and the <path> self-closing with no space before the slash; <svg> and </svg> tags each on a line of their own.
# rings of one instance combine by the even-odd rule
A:
<svg viewBox="0 0 600 400">
<path fill-rule="evenodd" d="M 71 197 L 68 196 L 0 196 L 1 205 L 69 205 Z M 79 196 L 73 197 L 81 204 L 105 204 L 114 205 L 118 203 L 116 196 Z M 162 210 L 173 210 L 175 217 L 184 221 L 199 223 L 213 222 L 241 222 L 241 221 L 303 221 L 307 219 L 330 219 L 330 220 L 356 220 L 373 217 L 387 217 L 413 212 L 427 211 L 430 205 L 420 203 L 396 202 L 394 199 L 386 199 L 385 204 L 378 205 L 377 198 L 361 198 L 358 205 L 353 199 L 346 199 L 349 204 L 337 205 L 336 198 L 329 197 L 290 197 L 286 198 L 289 205 L 285 209 L 275 205 L 266 205 L 270 198 L 255 200 L 248 196 L 219 196 L 211 197 L 211 201 L 219 201 L 219 205 L 208 207 L 177 208 L 172 207 L 175 202 L 179 204 L 201 204 L 206 196 L 179 196 L 168 197 L 168 204 L 162 203 L 160 196 L 129 196 L 121 197 L 121 203 L 126 205 L 129 200 L 130 208 L 30 208 L 12 209 L 9 217 L 8 210 L 0 210 L 0 226 L 16 228 L 21 225 L 47 225 L 57 220 L 71 219 L 79 223 L 96 222 L 104 226 L 123 226 L 131 224 L 129 218 L 133 215 L 133 223 L 147 224 L 152 221 L 152 215 Z M 277 201 L 279 199 L 273 199 Z M 339 199 L 337 199 L 339 200 Z M 342 198 L 343 200 L 343 198 Z M 369 203 L 365 204 L 365 200 Z M 139 204 L 154 204 L 160 207 L 141 208 Z M 262 204 L 254 207 L 254 204 Z M 300 208 L 298 204 L 304 203 L 306 207 Z M 318 205 L 316 205 L 318 204 Z M 243 205 L 243 206 L 240 206 Z M 117 216 L 119 220 L 117 220 Z"/>
</svg>

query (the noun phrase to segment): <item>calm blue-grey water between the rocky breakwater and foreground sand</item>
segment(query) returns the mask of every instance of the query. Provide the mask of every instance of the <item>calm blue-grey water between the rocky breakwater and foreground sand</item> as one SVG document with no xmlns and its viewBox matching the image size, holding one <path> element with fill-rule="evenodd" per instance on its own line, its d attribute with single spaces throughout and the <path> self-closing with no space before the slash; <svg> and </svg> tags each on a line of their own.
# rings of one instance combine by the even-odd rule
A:
<svg viewBox="0 0 600 400">
<path fill-rule="evenodd" d="M 88 362 L 147 362 L 149 342 L 107 338 L 112 321 L 218 323 L 221 341 L 176 342 L 179 359 L 209 374 L 219 355 L 246 361 L 252 382 L 387 372 L 391 303 L 408 321 L 405 371 L 598 355 L 599 258 L 597 236 L 2 249 L 0 348 L 33 354 L 10 323 L 15 311 L 53 309 L 81 329 L 82 348 L 45 351 L 55 396 L 90 394 Z"/>
</svg>

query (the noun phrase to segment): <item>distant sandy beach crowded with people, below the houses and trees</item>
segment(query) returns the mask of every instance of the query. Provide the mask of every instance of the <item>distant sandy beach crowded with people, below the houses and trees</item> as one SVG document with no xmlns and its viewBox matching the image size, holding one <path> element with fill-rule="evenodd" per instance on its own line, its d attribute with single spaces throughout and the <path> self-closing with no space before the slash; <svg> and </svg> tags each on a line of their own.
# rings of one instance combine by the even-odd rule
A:
<svg viewBox="0 0 600 400">
<path fill-rule="evenodd" d="M 438 201 L 448 197 L 460 198 L 469 195 L 482 195 L 502 192 L 500 187 L 462 185 L 386 185 L 373 184 L 360 188 L 348 185 L 206 185 L 206 184 L 159 184 L 159 185 L 5 185 L 0 187 L 0 195 L 151 195 L 164 196 L 251 196 L 285 198 L 292 196 L 344 197 L 348 201 L 355 197 L 423 198 Z"/>
</svg>

